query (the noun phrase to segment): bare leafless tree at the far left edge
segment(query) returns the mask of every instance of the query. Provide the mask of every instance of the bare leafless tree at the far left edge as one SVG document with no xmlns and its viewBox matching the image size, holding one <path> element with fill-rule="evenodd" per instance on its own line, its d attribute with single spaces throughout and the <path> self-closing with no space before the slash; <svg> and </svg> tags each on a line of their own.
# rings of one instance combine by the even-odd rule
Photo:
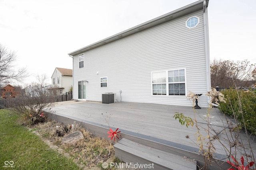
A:
<svg viewBox="0 0 256 170">
<path fill-rule="evenodd" d="M 9 84 L 16 80 L 22 82 L 23 78 L 28 76 L 26 68 L 18 68 L 14 70 L 14 61 L 16 60 L 16 53 L 9 51 L 0 44 L 0 86 Z"/>
</svg>

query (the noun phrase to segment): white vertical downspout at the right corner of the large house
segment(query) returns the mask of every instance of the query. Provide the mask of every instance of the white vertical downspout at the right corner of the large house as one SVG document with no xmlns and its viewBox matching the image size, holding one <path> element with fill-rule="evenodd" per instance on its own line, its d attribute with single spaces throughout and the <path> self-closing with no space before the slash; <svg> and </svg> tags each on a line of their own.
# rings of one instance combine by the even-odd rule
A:
<svg viewBox="0 0 256 170">
<path fill-rule="evenodd" d="M 210 51 L 209 51 L 209 28 L 208 28 L 208 10 L 206 8 L 206 1 L 204 1 L 203 8 L 203 18 L 204 18 L 204 44 L 205 44 L 205 58 L 206 58 L 206 88 L 210 90 L 211 88 L 211 73 L 210 73 Z M 207 100 L 210 100 L 208 97 Z"/>
</svg>

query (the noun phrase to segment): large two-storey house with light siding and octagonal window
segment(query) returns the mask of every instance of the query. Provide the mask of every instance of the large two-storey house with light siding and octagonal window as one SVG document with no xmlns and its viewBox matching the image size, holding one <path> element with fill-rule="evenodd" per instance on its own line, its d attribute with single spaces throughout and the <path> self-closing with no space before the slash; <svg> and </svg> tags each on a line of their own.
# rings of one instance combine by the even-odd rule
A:
<svg viewBox="0 0 256 170">
<path fill-rule="evenodd" d="M 73 99 L 192 106 L 189 91 L 210 90 L 208 0 L 200 0 L 78 49 Z M 208 107 L 208 97 L 198 105 Z"/>
</svg>

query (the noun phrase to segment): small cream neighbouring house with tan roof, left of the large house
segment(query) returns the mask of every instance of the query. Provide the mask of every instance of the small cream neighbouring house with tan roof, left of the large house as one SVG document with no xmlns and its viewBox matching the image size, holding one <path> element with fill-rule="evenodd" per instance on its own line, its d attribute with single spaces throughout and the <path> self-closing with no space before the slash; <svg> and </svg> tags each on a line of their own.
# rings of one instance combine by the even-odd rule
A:
<svg viewBox="0 0 256 170">
<path fill-rule="evenodd" d="M 73 85 L 72 69 L 56 67 L 52 74 L 52 88 L 57 90 L 57 94 L 64 94 Z"/>
</svg>

